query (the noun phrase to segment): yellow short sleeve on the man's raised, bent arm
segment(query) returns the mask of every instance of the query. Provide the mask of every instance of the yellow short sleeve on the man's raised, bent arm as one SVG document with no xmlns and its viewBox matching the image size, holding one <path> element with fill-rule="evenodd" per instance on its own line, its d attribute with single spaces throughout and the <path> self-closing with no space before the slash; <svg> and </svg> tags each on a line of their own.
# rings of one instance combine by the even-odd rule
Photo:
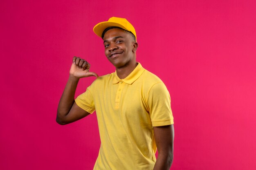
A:
<svg viewBox="0 0 256 170">
<path fill-rule="evenodd" d="M 89 87 L 75 99 L 76 104 L 82 108 L 83 110 L 87 111 L 88 113 L 93 113 L 95 111 L 94 100 L 92 97 L 92 93 L 89 90 Z"/>
</svg>

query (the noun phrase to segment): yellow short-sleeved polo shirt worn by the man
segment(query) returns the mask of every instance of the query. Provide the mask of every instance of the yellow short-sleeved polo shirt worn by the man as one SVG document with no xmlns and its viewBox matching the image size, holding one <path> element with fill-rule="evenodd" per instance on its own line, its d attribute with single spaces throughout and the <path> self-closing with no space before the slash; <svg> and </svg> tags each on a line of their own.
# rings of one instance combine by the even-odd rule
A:
<svg viewBox="0 0 256 170">
<path fill-rule="evenodd" d="M 98 77 L 75 102 L 97 113 L 101 147 L 94 170 L 153 170 L 153 126 L 173 124 L 161 79 L 138 63 L 125 79 L 116 72 Z"/>
</svg>

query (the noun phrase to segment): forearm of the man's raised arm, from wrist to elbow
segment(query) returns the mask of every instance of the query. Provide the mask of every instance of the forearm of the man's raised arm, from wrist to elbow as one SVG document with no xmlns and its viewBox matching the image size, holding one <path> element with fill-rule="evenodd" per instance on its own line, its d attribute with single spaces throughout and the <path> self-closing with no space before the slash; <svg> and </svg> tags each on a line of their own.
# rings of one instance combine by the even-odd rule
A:
<svg viewBox="0 0 256 170">
<path fill-rule="evenodd" d="M 57 119 L 65 117 L 72 108 L 78 82 L 78 78 L 70 75 L 58 104 Z"/>
</svg>

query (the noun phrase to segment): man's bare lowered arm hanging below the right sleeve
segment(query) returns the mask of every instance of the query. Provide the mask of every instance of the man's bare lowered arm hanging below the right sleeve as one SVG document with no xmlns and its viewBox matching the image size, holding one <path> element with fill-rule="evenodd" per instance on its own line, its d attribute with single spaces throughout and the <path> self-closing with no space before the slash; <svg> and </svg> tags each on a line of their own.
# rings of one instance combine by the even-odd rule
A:
<svg viewBox="0 0 256 170">
<path fill-rule="evenodd" d="M 158 158 L 154 170 L 170 170 L 173 163 L 173 124 L 154 127 L 154 135 L 158 150 Z"/>
</svg>

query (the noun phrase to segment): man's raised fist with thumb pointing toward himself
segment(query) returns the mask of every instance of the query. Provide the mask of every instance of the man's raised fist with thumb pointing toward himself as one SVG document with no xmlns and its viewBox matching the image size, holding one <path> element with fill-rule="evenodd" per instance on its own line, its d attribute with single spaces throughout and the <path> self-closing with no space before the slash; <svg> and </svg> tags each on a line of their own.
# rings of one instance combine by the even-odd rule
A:
<svg viewBox="0 0 256 170">
<path fill-rule="evenodd" d="M 73 57 L 73 64 L 70 68 L 70 76 L 76 77 L 78 79 L 83 77 L 95 76 L 99 77 L 96 73 L 90 72 L 90 64 L 81 59 L 80 57 Z"/>
</svg>

